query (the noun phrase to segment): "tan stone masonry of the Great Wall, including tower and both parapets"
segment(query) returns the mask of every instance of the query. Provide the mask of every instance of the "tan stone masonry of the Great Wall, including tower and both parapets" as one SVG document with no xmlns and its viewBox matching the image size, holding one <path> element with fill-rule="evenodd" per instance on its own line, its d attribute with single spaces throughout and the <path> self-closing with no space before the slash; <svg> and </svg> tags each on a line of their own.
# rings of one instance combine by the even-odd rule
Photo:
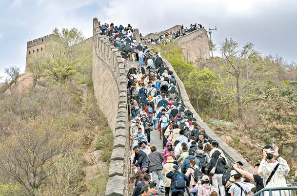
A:
<svg viewBox="0 0 297 196">
<path fill-rule="evenodd" d="M 178 25 L 163 32 L 175 32 Z M 114 149 L 109 166 L 109 179 L 106 187 L 105 196 L 129 196 L 129 176 L 130 176 L 130 152 L 131 145 L 129 139 L 129 119 L 127 110 L 127 86 L 126 71 L 117 49 L 109 44 L 106 37 L 99 33 L 98 19 L 93 20 L 93 37 L 87 39 L 88 44 L 93 43 L 93 68 L 92 80 L 94 91 L 97 97 L 98 105 L 105 114 L 111 130 L 114 132 Z M 149 34 L 153 36 L 156 34 Z M 48 41 L 48 37 L 39 38 L 28 42 L 27 59 L 30 54 L 40 51 L 43 45 Z M 135 29 L 134 37 L 140 41 L 139 30 Z M 208 37 L 205 29 L 198 29 L 186 36 L 176 39 L 183 48 L 183 54 L 190 54 L 189 59 L 196 61 L 200 59 L 209 59 Z M 37 50 L 38 49 L 38 50 Z M 32 52 L 31 52 L 32 51 Z M 186 54 L 186 55 L 185 55 Z M 198 124 L 205 129 L 211 139 L 218 141 L 229 161 L 241 161 L 244 169 L 253 173 L 253 167 L 246 162 L 234 149 L 224 143 L 216 133 L 214 133 L 199 117 L 190 103 L 185 87 L 178 78 L 172 65 L 163 59 L 164 63 L 173 70 L 176 76 L 179 91 L 186 105 L 193 111 Z M 112 99 L 111 99 L 112 98 Z M 116 117 L 116 118 L 115 118 Z"/>
</svg>

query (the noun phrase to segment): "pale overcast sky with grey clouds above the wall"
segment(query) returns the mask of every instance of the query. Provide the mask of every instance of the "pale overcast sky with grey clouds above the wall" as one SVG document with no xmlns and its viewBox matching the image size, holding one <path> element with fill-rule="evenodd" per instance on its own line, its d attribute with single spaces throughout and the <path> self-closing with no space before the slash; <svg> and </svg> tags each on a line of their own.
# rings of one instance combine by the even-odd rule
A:
<svg viewBox="0 0 297 196">
<path fill-rule="evenodd" d="M 130 23 L 142 34 L 176 24 L 217 26 L 212 33 L 217 46 L 233 38 L 241 45 L 253 42 L 263 55 L 297 62 L 296 0 L 0 0 L 0 75 L 10 66 L 24 72 L 27 42 L 55 27 L 77 27 L 92 37 L 94 17 Z"/>
</svg>

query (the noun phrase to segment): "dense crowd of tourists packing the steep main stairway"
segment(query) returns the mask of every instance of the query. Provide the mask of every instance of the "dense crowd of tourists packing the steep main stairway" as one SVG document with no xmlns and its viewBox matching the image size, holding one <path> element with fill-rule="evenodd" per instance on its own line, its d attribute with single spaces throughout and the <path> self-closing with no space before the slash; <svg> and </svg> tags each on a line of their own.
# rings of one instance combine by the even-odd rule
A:
<svg viewBox="0 0 297 196">
<path fill-rule="evenodd" d="M 247 196 L 264 187 L 286 186 L 290 168 L 277 147 L 263 148 L 254 174 L 245 171 L 239 160 L 228 161 L 218 141 L 208 137 L 183 103 L 173 71 L 164 65 L 161 54 L 137 43 L 128 34 L 132 27 L 121 28 L 121 34 L 108 28 L 107 34 L 123 61 L 134 62 L 127 73 L 133 196 L 182 196 L 185 192 L 189 196 Z M 160 134 L 154 143 L 160 142 L 162 149 L 151 145 L 152 131 Z"/>
</svg>

